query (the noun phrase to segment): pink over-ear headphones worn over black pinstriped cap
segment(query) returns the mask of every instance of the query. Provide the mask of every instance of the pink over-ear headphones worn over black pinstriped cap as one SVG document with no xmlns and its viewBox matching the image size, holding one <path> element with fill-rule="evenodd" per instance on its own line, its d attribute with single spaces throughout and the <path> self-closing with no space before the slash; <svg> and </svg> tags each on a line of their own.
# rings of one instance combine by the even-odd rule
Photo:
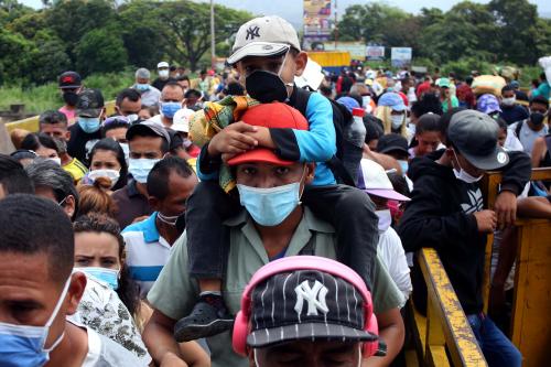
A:
<svg viewBox="0 0 551 367">
<path fill-rule="evenodd" d="M 364 330 L 374 334 L 379 334 L 377 317 L 372 313 L 371 294 L 367 290 L 361 278 L 344 263 L 317 256 L 291 256 L 282 258 L 260 268 L 251 278 L 241 296 L 241 310 L 237 313 L 234 324 L 233 345 L 234 350 L 247 356 L 247 335 L 249 334 L 249 317 L 252 290 L 262 281 L 282 272 L 295 270 L 318 270 L 332 276 L 336 276 L 353 284 L 364 299 Z M 379 342 L 364 343 L 363 356 L 372 356 L 379 347 Z"/>
</svg>

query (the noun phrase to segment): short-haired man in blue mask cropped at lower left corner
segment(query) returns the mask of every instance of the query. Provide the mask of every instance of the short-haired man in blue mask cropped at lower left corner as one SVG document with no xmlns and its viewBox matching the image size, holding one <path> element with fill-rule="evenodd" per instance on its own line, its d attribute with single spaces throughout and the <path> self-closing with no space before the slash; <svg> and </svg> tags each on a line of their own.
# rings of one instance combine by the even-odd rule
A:
<svg viewBox="0 0 551 367">
<path fill-rule="evenodd" d="M 85 274 L 72 271 L 73 261 L 72 225 L 55 203 L 26 194 L 0 202 L 1 366 L 144 365 L 119 344 L 66 320 L 86 288 Z"/>
</svg>

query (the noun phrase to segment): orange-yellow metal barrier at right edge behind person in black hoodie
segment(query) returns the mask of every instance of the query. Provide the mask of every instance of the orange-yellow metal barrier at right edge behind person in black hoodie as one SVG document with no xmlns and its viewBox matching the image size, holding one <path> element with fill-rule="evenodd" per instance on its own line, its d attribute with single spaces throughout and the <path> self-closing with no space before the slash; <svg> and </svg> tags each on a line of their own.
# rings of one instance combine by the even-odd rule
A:
<svg viewBox="0 0 551 367">
<path fill-rule="evenodd" d="M 501 174 L 486 175 L 483 188 L 486 204 L 493 208 Z M 551 168 L 532 169 L 531 181 L 551 180 Z M 525 367 L 547 366 L 551 345 L 551 220 L 519 218 L 517 227 L 517 267 L 510 338 L 522 354 Z M 486 245 L 484 300 L 487 309 L 490 284 L 490 257 L 494 236 Z"/>
</svg>

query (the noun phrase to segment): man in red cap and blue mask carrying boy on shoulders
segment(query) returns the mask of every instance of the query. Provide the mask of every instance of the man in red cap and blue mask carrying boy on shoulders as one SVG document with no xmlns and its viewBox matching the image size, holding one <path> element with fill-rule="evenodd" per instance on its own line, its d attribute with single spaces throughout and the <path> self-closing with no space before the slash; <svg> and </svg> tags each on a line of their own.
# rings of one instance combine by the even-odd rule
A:
<svg viewBox="0 0 551 367">
<path fill-rule="evenodd" d="M 256 127 L 309 128 L 298 110 L 280 102 L 250 108 L 242 118 Z M 295 255 L 335 259 L 337 240 L 335 229 L 301 203 L 304 187 L 314 181 L 315 163 L 283 160 L 272 149 L 259 145 L 237 154 L 228 164 L 244 208 L 233 213 L 223 224 L 227 236 L 224 250 L 226 271 L 222 280 L 224 300 L 207 295 L 204 299 L 206 302 L 224 302 L 228 312 L 235 314 L 240 309 L 246 284 L 260 267 Z M 148 294 L 155 310 L 143 337 L 154 361 L 160 365 L 177 365 L 180 361 L 182 356 L 173 338 L 174 325 L 190 314 L 199 296 L 197 281 L 188 273 L 188 261 L 196 261 L 187 250 L 188 245 L 184 234 L 174 245 L 169 262 Z M 390 361 L 403 341 L 403 324 L 398 311 L 401 294 L 378 258 L 374 260 L 374 273 L 375 313 L 388 347 L 385 361 Z M 203 319 L 219 317 L 213 315 L 214 310 L 217 306 L 205 309 Z M 233 320 L 222 322 L 231 324 Z M 249 366 L 247 358 L 231 350 L 229 332 L 210 336 L 207 343 L 214 367 Z"/>
</svg>

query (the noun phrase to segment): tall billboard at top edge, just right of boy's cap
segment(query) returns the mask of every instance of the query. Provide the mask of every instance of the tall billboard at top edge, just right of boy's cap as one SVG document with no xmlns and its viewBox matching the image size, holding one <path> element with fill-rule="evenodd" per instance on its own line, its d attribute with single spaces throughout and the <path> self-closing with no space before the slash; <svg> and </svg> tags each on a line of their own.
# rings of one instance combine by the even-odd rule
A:
<svg viewBox="0 0 551 367">
<path fill-rule="evenodd" d="M 304 0 L 304 39 L 327 41 L 331 35 L 331 0 Z"/>
</svg>

